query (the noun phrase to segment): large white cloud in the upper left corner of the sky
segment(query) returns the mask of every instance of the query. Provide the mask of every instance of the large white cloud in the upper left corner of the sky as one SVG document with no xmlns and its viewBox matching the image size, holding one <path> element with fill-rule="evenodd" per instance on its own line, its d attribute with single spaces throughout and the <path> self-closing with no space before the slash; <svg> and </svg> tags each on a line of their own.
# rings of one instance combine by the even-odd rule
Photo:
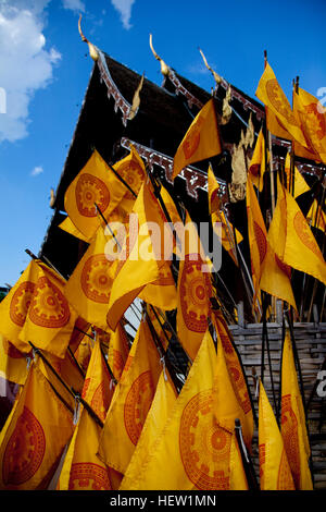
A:
<svg viewBox="0 0 326 512">
<path fill-rule="evenodd" d="M 0 87 L 7 101 L 5 113 L 0 113 L 0 143 L 27 136 L 30 100 L 51 82 L 61 59 L 54 48 L 46 50 L 42 31 L 49 1 L 0 0 Z"/>
</svg>

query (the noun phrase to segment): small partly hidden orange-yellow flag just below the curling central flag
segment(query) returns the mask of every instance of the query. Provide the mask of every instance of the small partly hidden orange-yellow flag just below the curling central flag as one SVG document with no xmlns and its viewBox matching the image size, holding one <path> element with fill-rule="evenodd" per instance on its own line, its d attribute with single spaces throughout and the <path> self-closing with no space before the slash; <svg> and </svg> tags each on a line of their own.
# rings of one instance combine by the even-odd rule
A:
<svg viewBox="0 0 326 512">
<path fill-rule="evenodd" d="M 129 343 L 125 329 L 117 324 L 109 343 L 108 363 L 116 380 L 120 380 L 129 354 Z"/>
</svg>

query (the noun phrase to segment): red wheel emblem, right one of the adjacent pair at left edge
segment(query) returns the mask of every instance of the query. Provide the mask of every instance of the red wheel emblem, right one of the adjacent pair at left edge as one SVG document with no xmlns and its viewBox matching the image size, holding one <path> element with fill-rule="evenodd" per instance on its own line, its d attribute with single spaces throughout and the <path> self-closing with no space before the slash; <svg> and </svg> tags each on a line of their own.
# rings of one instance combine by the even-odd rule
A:
<svg viewBox="0 0 326 512">
<path fill-rule="evenodd" d="M 37 280 L 28 315 L 36 326 L 59 329 L 68 322 L 71 310 L 59 288 L 42 276 Z"/>
</svg>

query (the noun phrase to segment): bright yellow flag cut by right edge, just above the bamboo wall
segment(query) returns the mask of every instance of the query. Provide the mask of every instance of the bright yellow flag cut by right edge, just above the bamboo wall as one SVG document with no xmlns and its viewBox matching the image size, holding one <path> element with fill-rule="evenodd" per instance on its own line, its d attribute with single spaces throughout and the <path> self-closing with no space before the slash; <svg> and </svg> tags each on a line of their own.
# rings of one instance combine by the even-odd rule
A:
<svg viewBox="0 0 326 512">
<path fill-rule="evenodd" d="M 283 228 L 273 248 L 279 259 L 326 284 L 326 264 L 318 244 L 296 199 L 278 180 L 278 197 Z"/>
</svg>

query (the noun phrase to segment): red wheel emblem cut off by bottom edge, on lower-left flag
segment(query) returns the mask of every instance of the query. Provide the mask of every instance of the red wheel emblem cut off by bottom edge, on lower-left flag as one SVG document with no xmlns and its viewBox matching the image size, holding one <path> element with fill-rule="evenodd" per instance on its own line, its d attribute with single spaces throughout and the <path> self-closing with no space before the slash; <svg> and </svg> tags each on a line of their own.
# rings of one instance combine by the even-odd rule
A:
<svg viewBox="0 0 326 512">
<path fill-rule="evenodd" d="M 92 462 L 73 463 L 68 490 L 112 490 L 108 472 Z"/>
</svg>

